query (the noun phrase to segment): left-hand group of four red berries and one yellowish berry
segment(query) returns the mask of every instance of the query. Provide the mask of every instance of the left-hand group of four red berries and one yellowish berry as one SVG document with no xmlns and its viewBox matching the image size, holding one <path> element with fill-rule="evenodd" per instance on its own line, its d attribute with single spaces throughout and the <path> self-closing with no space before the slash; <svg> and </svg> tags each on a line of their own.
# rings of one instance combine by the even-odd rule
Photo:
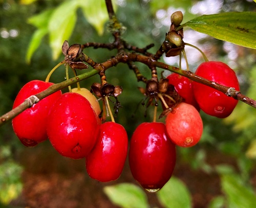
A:
<svg viewBox="0 0 256 208">
<path fill-rule="evenodd" d="M 52 84 L 30 81 L 19 91 L 13 108 Z M 101 124 L 96 114 L 100 112 L 99 103 L 89 90 L 73 91 L 76 93 L 57 91 L 17 115 L 12 120 L 14 132 L 27 147 L 49 138 L 61 155 L 73 159 L 86 157 L 90 177 L 102 182 L 116 180 L 127 155 L 127 133 L 115 122 Z"/>
</svg>

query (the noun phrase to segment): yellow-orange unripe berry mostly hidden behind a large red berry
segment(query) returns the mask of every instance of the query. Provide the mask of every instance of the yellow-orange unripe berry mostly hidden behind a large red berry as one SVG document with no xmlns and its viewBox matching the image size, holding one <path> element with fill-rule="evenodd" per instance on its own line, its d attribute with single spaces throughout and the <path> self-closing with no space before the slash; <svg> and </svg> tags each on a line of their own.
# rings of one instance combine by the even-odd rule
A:
<svg viewBox="0 0 256 208">
<path fill-rule="evenodd" d="M 101 109 L 100 109 L 100 105 L 99 105 L 99 101 L 97 100 L 97 98 L 90 92 L 89 89 L 87 88 L 73 88 L 72 89 L 72 93 L 78 93 L 80 95 L 82 95 L 84 98 L 86 98 L 92 105 L 96 115 L 97 115 L 97 118 L 99 120 L 99 123 L 101 123 L 101 120 L 99 118 L 99 114 L 101 112 Z"/>
</svg>

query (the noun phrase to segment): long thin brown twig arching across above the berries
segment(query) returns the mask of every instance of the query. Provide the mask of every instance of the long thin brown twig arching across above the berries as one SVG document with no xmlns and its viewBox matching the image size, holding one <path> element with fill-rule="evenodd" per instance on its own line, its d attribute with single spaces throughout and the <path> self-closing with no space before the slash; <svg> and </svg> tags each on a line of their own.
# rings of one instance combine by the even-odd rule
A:
<svg viewBox="0 0 256 208">
<path fill-rule="evenodd" d="M 92 60 L 91 60 L 92 61 Z M 234 88 L 232 88 L 232 86 L 223 86 L 220 85 L 216 82 L 212 82 L 210 80 L 204 79 L 200 76 L 197 76 L 195 74 L 193 74 L 190 71 L 185 71 L 185 70 L 181 70 L 178 67 L 175 66 L 170 66 L 167 65 L 165 63 L 159 62 L 159 61 L 155 61 L 152 57 L 147 57 L 147 56 L 143 56 L 140 54 L 136 54 L 136 53 L 122 53 L 119 54 L 103 63 L 100 64 L 96 64 L 94 66 L 94 70 L 91 70 L 89 72 L 83 73 L 79 76 L 73 77 L 69 80 L 57 83 L 57 84 L 53 84 L 51 85 L 49 88 L 47 88 L 46 90 L 42 91 L 41 93 L 36 94 L 35 96 L 38 98 L 38 101 L 40 101 L 43 98 L 46 98 L 47 96 L 55 93 L 58 90 L 61 90 L 67 86 L 70 86 L 71 84 L 77 83 L 79 81 L 82 81 L 84 79 L 87 79 L 89 77 L 92 77 L 96 74 L 98 74 L 101 71 L 105 71 L 108 68 L 117 65 L 118 63 L 129 63 L 129 62 L 141 62 L 146 64 L 148 67 L 158 67 L 158 68 L 163 68 L 164 70 L 168 70 L 177 74 L 180 74 L 184 77 L 187 77 L 188 79 L 191 79 L 193 81 L 199 82 L 201 84 L 210 86 L 212 88 L 215 88 L 219 91 L 221 91 L 222 93 L 224 93 L 225 95 L 232 97 L 234 99 L 240 100 L 254 108 L 256 108 L 256 101 L 243 95 L 240 91 L 235 90 Z M 34 104 L 34 102 L 32 102 Z M 3 124 L 7 123 L 7 121 L 10 121 L 11 119 L 13 119 L 14 117 L 16 117 L 19 113 L 23 112 L 24 110 L 26 110 L 27 108 L 31 107 L 31 102 L 29 102 L 28 100 L 25 100 L 22 104 L 20 104 L 19 106 L 17 106 L 16 108 L 14 108 L 13 110 L 7 112 L 6 114 L 2 115 L 0 117 L 0 126 L 2 126 Z"/>
</svg>

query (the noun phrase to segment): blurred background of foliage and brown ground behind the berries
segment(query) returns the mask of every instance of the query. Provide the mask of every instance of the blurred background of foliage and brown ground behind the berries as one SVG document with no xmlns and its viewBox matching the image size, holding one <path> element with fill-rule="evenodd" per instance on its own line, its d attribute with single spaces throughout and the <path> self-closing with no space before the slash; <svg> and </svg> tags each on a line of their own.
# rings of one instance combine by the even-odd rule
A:
<svg viewBox="0 0 256 208">
<path fill-rule="evenodd" d="M 123 37 L 127 43 L 139 48 L 154 43 L 155 47 L 150 49 L 152 53 L 164 40 L 170 15 L 175 11 L 183 12 L 183 22 L 202 14 L 256 11 L 252 0 L 113 2 L 117 18 L 125 27 Z M 0 0 L 0 6 L 1 115 L 12 109 L 24 84 L 34 79 L 45 80 L 51 69 L 63 60 L 61 45 L 58 45 L 65 40 L 62 38 L 68 37 L 70 45 L 113 41 L 102 0 Z M 60 26 L 55 25 L 58 22 Z M 209 60 L 227 63 L 237 73 L 242 93 L 256 99 L 255 50 L 189 29 L 184 31 L 184 41 L 200 48 Z M 185 51 L 189 69 L 195 71 L 203 58 L 193 48 L 186 47 Z M 83 52 L 96 62 L 103 62 L 116 53 L 92 48 Z M 179 63 L 176 57 L 163 57 L 161 61 L 174 66 Z M 144 76 L 150 75 L 144 65 L 137 65 Z M 182 60 L 182 68 L 185 67 Z M 106 76 L 111 84 L 123 87 L 119 96 L 122 108 L 116 122 L 123 125 L 131 137 L 140 123 L 152 121 L 150 110 L 145 118 L 145 108 L 138 105 L 143 99 L 138 86 L 144 84 L 138 83 L 134 73 L 124 64 L 111 68 Z M 65 67 L 59 67 L 50 79 L 55 83 L 64 80 Z M 95 76 L 80 85 L 90 89 L 93 82 L 99 81 Z M 231 192 L 242 188 L 246 194 L 239 201 L 246 203 L 248 196 L 255 197 L 256 189 L 256 109 L 239 102 L 227 119 L 210 117 L 203 112 L 201 116 L 204 123 L 202 140 L 192 148 L 177 148 L 174 176 L 187 189 L 192 207 L 232 207 L 230 200 L 239 197 L 240 192 Z M 118 180 L 100 183 L 87 175 L 83 159 L 60 156 L 49 141 L 34 148 L 24 147 L 11 123 L 0 127 L 0 163 L 0 207 L 118 207 L 105 194 L 104 187 L 122 182 L 137 184 L 127 161 Z M 235 188 L 226 186 L 229 184 L 226 175 L 237 182 L 237 186 L 232 182 Z M 157 194 L 145 194 L 148 207 L 164 207 Z"/>
</svg>

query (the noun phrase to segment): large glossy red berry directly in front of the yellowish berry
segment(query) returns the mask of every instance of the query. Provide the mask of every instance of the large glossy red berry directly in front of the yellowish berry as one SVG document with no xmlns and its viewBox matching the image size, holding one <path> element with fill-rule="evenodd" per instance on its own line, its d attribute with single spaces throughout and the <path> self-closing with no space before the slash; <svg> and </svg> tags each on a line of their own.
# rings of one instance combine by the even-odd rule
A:
<svg viewBox="0 0 256 208">
<path fill-rule="evenodd" d="M 90 102 L 77 93 L 63 94 L 49 113 L 49 140 L 66 157 L 86 157 L 96 143 L 98 129 L 97 117 Z"/>
</svg>

